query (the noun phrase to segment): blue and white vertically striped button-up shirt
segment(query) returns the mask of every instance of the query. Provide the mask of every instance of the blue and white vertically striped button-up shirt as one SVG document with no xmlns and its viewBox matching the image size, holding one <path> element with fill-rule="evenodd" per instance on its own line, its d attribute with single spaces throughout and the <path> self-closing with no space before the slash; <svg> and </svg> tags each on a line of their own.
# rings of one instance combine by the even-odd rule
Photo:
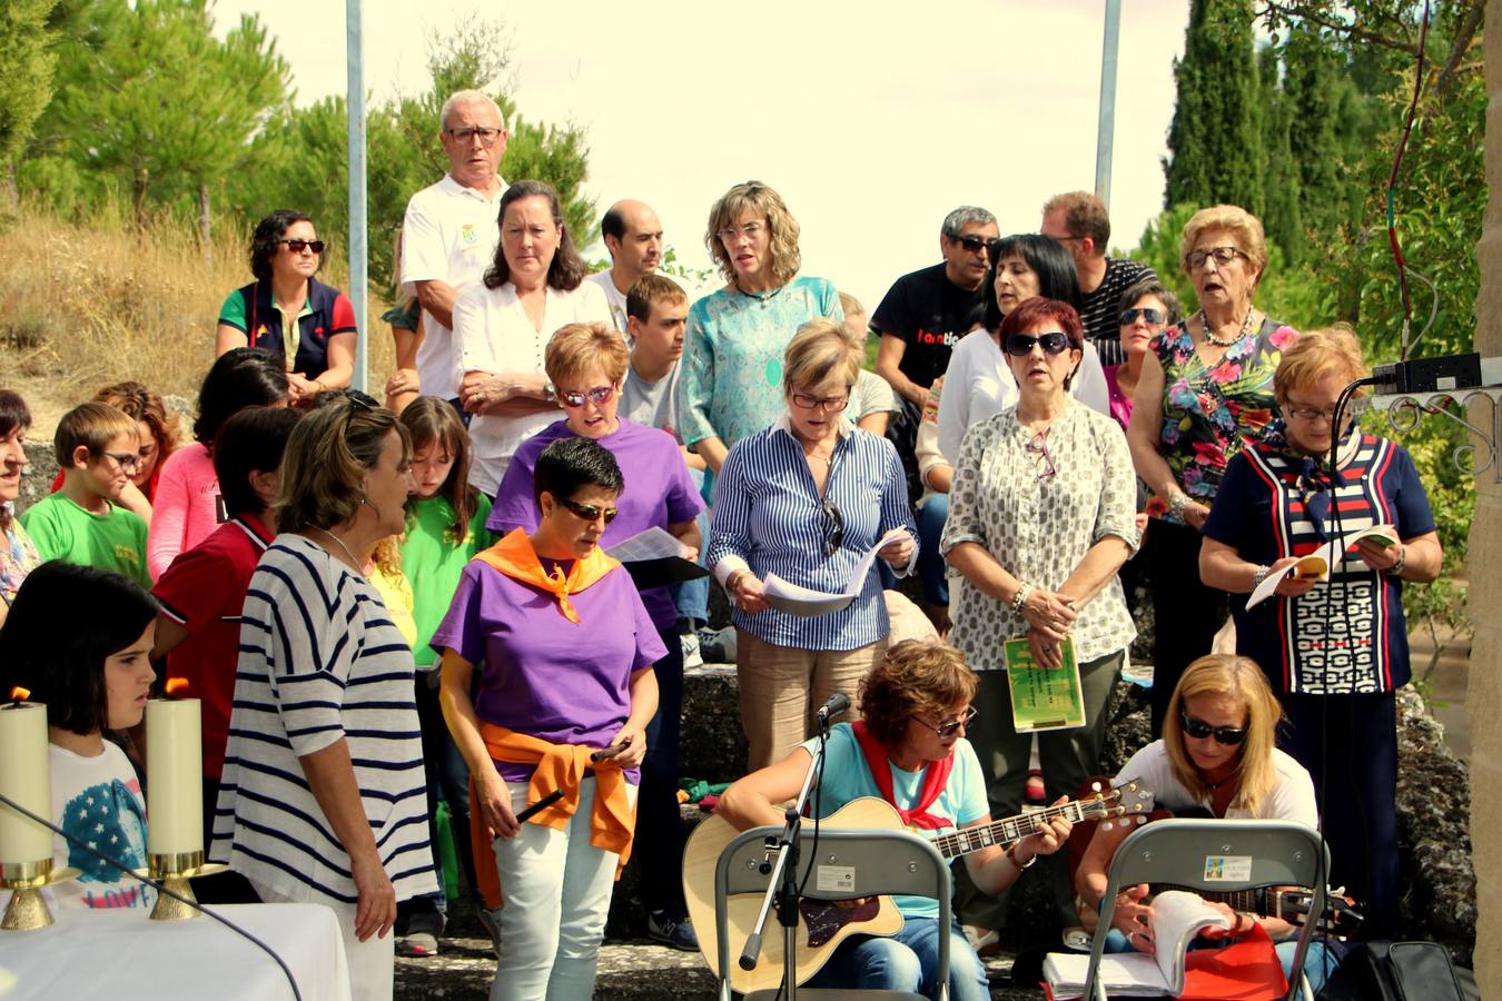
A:
<svg viewBox="0 0 1502 1001">
<path fill-rule="evenodd" d="M 843 524 L 840 548 L 828 557 L 835 531 L 825 501 L 838 509 Z M 771 428 L 730 446 L 715 485 L 704 563 L 721 584 L 746 567 L 762 579 L 777 573 L 790 584 L 838 594 L 850 584 L 861 555 L 898 525 L 913 539 L 913 558 L 901 570 L 906 575 L 916 563 L 918 530 L 903 462 L 891 441 L 844 422 L 820 497 L 784 413 Z M 855 650 L 889 632 L 874 566 L 861 596 L 838 612 L 799 617 L 775 608 L 754 615 L 736 609 L 733 620 L 759 639 L 799 650 Z"/>
</svg>

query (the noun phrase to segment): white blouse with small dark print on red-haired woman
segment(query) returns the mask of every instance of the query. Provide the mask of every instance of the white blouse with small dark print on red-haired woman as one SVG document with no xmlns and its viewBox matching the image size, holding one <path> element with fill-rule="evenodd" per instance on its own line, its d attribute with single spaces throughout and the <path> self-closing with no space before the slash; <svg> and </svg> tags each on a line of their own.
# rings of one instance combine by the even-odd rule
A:
<svg viewBox="0 0 1502 1001">
<path fill-rule="evenodd" d="M 1008 407 L 964 435 L 939 549 L 975 542 L 1012 576 L 1057 591 L 1105 536 L 1136 551 L 1136 513 L 1137 480 L 1120 425 L 1072 404 L 1039 443 Z M 1003 647 L 1027 633 L 1027 620 L 964 575 L 949 593 L 951 642 L 972 669 L 1005 669 Z M 1069 635 L 1081 665 L 1131 644 L 1137 630 L 1120 578 L 1080 608 Z"/>
</svg>

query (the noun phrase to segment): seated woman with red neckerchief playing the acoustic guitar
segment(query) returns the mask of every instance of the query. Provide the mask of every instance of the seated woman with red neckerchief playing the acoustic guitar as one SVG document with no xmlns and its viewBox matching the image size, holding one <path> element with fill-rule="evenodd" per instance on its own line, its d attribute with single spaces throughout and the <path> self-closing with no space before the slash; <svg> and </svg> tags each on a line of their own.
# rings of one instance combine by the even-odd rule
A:
<svg viewBox="0 0 1502 1001">
<path fill-rule="evenodd" d="M 861 681 L 858 723 L 840 723 L 829 734 L 823 780 L 814 804 L 829 816 L 858 797 L 880 797 L 903 821 L 930 837 L 943 828 L 990 822 L 981 764 L 964 738 L 975 716 L 976 677 L 958 650 L 936 641 L 904 641 L 886 651 Z M 783 824 L 777 806 L 798 795 L 813 761 L 814 741 L 783 761 L 753 771 L 719 800 L 719 815 L 736 828 Z M 1059 849 L 1069 821 L 1054 816 L 1038 833 L 1002 849 L 990 845 L 964 857 L 970 878 L 987 893 L 999 893 L 1038 855 Z M 856 905 L 859 902 L 850 902 Z M 840 944 L 810 987 L 916 990 L 936 996 L 939 965 L 939 905 L 928 897 L 897 897 L 903 927 L 891 938 L 852 935 Z M 949 935 L 949 996 L 990 998 L 985 968 L 958 924 Z"/>
</svg>

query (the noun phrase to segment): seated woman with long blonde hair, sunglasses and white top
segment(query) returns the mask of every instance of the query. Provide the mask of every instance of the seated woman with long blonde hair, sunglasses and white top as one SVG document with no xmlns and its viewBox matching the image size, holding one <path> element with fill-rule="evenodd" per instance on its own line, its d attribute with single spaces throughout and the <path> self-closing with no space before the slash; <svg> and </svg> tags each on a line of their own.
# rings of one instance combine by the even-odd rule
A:
<svg viewBox="0 0 1502 1001">
<path fill-rule="evenodd" d="M 1281 717 L 1278 699 L 1262 668 L 1248 657 L 1209 654 L 1191 663 L 1169 698 L 1163 738 L 1136 755 L 1116 774 L 1116 785 L 1140 782 L 1154 791 L 1163 809 L 1178 815 L 1209 815 L 1232 819 L 1295 821 L 1319 825 L 1314 783 L 1298 761 L 1278 750 L 1277 728 Z M 1101 824 L 1074 873 L 1081 906 L 1099 909 L 1108 885 L 1111 858 L 1131 824 Z M 1334 846 L 1332 846 L 1334 851 Z M 1146 884 L 1125 890 L 1116 900 L 1108 953 L 1152 953 L 1152 903 Z M 1226 912 L 1229 932 L 1203 932 L 1208 942 L 1245 938 L 1260 924 L 1278 942 L 1296 929 L 1275 917 L 1233 911 L 1224 903 L 1211 906 Z M 1290 975 L 1296 942 L 1278 944 L 1284 975 Z M 1310 942 L 1304 972 L 1317 992 L 1335 966 L 1325 944 Z"/>
</svg>

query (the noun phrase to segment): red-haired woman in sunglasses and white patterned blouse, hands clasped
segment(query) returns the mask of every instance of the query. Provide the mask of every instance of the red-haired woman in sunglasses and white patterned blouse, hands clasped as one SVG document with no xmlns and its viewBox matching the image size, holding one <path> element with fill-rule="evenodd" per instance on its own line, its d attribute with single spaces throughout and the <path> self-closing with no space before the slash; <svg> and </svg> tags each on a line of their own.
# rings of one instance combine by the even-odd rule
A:
<svg viewBox="0 0 1502 1001">
<path fill-rule="evenodd" d="M 1099 765 L 1105 699 L 1136 638 L 1116 570 L 1137 548 L 1131 455 L 1122 429 L 1069 395 L 1084 350 L 1074 306 L 1029 299 L 1000 326 L 1017 402 L 964 437 L 940 542 L 960 572 L 951 590 L 951 642 L 981 675 L 970 728 L 991 813 L 1021 809 L 1033 734 L 1009 711 L 1003 647 L 1027 638 L 1033 659 L 1080 669 L 1086 723 L 1036 734 L 1048 798 L 1069 794 Z M 1062 864 L 1050 863 L 1059 927 L 1074 923 Z M 961 884 L 967 924 L 999 929 L 1005 905 Z M 982 932 L 984 933 L 984 932 Z"/>
</svg>

